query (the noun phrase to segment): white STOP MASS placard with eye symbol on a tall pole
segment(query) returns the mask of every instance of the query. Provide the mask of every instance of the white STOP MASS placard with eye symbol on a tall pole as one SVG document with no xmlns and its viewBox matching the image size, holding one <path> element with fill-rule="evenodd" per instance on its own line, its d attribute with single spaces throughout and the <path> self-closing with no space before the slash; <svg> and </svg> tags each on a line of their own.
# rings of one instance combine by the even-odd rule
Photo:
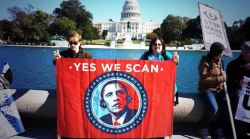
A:
<svg viewBox="0 0 250 139">
<path fill-rule="evenodd" d="M 210 50 L 212 43 L 220 42 L 226 48 L 224 52 L 225 55 L 232 56 L 232 51 L 220 11 L 200 2 L 198 3 L 198 7 L 200 11 L 203 41 L 206 50 Z"/>
</svg>

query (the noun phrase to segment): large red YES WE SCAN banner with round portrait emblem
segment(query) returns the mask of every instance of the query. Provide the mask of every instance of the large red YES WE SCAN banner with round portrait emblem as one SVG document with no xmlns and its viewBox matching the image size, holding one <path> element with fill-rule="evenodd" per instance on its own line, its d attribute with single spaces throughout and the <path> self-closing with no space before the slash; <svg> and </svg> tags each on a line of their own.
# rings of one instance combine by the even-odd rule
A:
<svg viewBox="0 0 250 139">
<path fill-rule="evenodd" d="M 62 58 L 56 76 L 58 136 L 172 135 L 173 61 Z"/>
</svg>

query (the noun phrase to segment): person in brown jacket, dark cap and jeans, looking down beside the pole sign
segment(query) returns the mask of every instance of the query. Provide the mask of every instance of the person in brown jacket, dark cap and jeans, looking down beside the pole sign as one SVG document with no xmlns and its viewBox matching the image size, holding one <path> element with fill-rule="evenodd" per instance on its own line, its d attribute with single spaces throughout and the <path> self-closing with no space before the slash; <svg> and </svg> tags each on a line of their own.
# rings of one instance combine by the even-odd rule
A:
<svg viewBox="0 0 250 139">
<path fill-rule="evenodd" d="M 219 42 L 214 42 L 210 51 L 206 56 L 203 56 L 199 63 L 199 96 L 205 103 L 206 113 L 202 123 L 202 128 L 199 134 L 202 139 L 209 138 L 209 130 L 214 131 L 213 135 L 216 138 L 224 138 L 222 128 L 224 119 L 222 110 L 226 110 L 226 96 L 224 93 L 224 78 L 223 67 L 221 66 L 224 45 Z M 218 116 L 218 117 L 217 117 Z M 211 123 L 217 117 L 215 130 L 211 130 Z"/>
</svg>

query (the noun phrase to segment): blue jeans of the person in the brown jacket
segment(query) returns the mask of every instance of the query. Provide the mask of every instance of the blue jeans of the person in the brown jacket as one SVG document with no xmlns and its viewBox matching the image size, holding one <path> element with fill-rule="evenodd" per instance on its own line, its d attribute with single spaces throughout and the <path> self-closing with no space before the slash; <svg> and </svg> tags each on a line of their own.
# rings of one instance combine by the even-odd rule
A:
<svg viewBox="0 0 250 139">
<path fill-rule="evenodd" d="M 200 98 L 206 107 L 205 115 L 201 125 L 202 128 L 208 128 L 211 125 L 211 122 L 215 119 L 217 121 L 215 124 L 216 128 L 221 128 L 222 124 L 225 122 L 225 114 L 227 114 L 228 111 L 225 92 L 221 91 L 218 93 L 213 93 L 206 91 L 200 93 Z"/>
</svg>

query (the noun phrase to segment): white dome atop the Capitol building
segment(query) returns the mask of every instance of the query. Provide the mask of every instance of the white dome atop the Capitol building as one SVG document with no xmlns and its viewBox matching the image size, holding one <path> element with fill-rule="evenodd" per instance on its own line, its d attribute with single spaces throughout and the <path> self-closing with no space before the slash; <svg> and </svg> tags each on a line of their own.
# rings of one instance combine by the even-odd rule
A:
<svg viewBox="0 0 250 139">
<path fill-rule="evenodd" d="M 140 21 L 141 11 L 137 0 L 126 0 L 122 12 L 121 21 Z"/>
</svg>

